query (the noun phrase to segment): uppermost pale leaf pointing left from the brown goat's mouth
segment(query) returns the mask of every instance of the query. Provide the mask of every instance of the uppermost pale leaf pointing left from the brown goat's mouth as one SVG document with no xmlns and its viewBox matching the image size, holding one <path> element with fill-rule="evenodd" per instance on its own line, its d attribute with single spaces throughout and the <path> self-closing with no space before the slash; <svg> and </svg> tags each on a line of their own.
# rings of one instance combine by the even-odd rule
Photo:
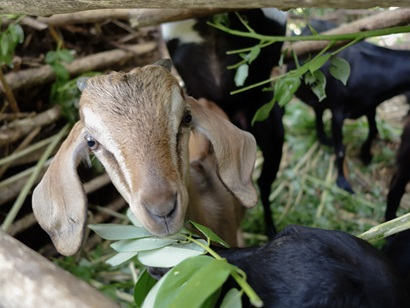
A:
<svg viewBox="0 0 410 308">
<path fill-rule="evenodd" d="M 152 236 L 147 230 L 131 225 L 98 224 L 88 227 L 106 240 L 130 240 Z"/>
</svg>

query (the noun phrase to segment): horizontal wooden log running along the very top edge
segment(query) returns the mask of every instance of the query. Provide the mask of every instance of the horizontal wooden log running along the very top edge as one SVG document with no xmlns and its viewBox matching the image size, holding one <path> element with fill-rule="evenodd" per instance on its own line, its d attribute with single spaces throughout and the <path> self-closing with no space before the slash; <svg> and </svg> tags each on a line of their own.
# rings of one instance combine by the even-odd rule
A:
<svg viewBox="0 0 410 308">
<path fill-rule="evenodd" d="M 0 14 L 24 14 L 47 16 L 60 13 L 73 13 L 93 9 L 118 8 L 158 8 L 158 9 L 215 9 L 215 8 L 258 8 L 277 7 L 289 9 L 298 7 L 328 7 L 363 9 L 391 6 L 408 7 L 408 0 L 3 0 L 0 5 Z"/>
</svg>

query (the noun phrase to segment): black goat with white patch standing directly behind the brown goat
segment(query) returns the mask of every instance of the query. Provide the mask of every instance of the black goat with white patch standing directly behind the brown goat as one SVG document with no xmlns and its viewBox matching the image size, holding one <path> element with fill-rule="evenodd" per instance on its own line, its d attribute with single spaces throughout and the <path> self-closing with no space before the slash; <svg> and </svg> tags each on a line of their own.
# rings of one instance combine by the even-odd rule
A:
<svg viewBox="0 0 410 308">
<path fill-rule="evenodd" d="M 254 9 L 241 11 L 240 14 L 257 33 L 286 33 L 286 14 L 279 10 Z M 235 13 L 229 13 L 228 19 L 231 29 L 246 31 Z M 272 92 L 262 92 L 259 87 L 230 95 L 237 87 L 234 83 L 235 71 L 227 67 L 240 62 L 242 58 L 239 55 L 227 55 L 227 51 L 252 47 L 256 41 L 217 30 L 207 24 L 210 20 L 212 18 L 200 18 L 163 24 L 162 35 L 188 94 L 215 102 L 236 126 L 255 136 L 264 157 L 258 185 L 265 213 L 265 228 L 268 236 L 273 237 L 276 230 L 269 194 L 282 158 L 283 110 L 275 106 L 266 121 L 251 125 L 256 110 L 272 99 Z M 279 61 L 281 47 L 281 43 L 276 43 L 261 50 L 249 67 L 245 86 L 270 77 L 272 68 Z"/>
</svg>

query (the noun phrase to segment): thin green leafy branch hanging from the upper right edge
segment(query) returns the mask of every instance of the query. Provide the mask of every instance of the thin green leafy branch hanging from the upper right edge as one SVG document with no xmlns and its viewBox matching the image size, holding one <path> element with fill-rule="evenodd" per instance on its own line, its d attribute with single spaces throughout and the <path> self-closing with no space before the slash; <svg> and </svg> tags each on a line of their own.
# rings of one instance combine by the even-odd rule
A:
<svg viewBox="0 0 410 308">
<path fill-rule="evenodd" d="M 263 105 L 255 114 L 252 124 L 256 121 L 263 121 L 271 112 L 274 104 L 277 102 L 280 106 L 286 105 L 293 97 L 294 93 L 297 91 L 301 84 L 301 79 L 303 78 L 305 84 L 309 85 L 318 100 L 321 101 L 326 97 L 325 87 L 326 78 L 325 75 L 320 71 L 320 68 L 327 62 L 330 61 L 330 74 L 340 80 L 344 85 L 346 85 L 348 77 L 350 75 L 350 65 L 349 63 L 342 59 L 337 58 L 336 55 L 347 47 L 355 44 L 365 38 L 382 36 L 394 33 L 406 33 L 410 32 L 410 26 L 399 26 L 388 29 L 378 29 L 363 31 L 359 33 L 347 33 L 347 34 L 336 34 L 336 35 L 326 35 L 318 34 L 303 37 L 284 37 L 284 36 L 268 36 L 256 33 L 249 24 L 241 17 L 240 13 L 236 13 L 241 23 L 245 26 L 247 31 L 239 31 L 230 29 L 226 22 L 221 22 L 221 19 L 214 19 L 213 22 L 209 24 L 219 30 L 227 32 L 232 35 L 253 38 L 259 41 L 255 46 L 248 48 L 242 48 L 238 50 L 229 51 L 228 54 L 239 54 L 242 60 L 232 65 L 228 68 L 237 69 L 235 75 L 235 84 L 238 87 L 244 85 L 245 80 L 248 76 L 249 65 L 256 59 L 259 55 L 260 50 L 266 46 L 277 42 L 284 41 L 329 41 L 327 46 L 322 49 L 316 56 L 314 56 L 310 61 L 305 62 L 302 66 L 299 65 L 298 59 L 295 54 L 293 54 L 294 61 L 296 63 L 296 69 L 290 70 L 280 76 L 274 76 L 267 80 L 260 81 L 258 83 L 242 87 L 238 90 L 232 91 L 231 94 L 237 94 L 243 91 L 247 91 L 256 87 L 271 84 L 275 82 L 274 88 L 266 88 L 265 90 L 274 91 L 273 99 L 267 104 Z M 332 53 L 326 53 L 330 48 L 332 48 L 338 41 L 347 41 L 347 43 L 341 48 L 333 51 Z"/>
</svg>

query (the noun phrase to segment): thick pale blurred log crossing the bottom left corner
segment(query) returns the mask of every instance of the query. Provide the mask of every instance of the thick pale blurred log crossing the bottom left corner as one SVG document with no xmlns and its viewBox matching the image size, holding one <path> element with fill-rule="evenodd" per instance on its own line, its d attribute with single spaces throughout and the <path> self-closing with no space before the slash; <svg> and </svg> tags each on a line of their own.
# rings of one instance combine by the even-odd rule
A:
<svg viewBox="0 0 410 308">
<path fill-rule="evenodd" d="M 2 230 L 0 273 L 2 307 L 118 307 Z"/>
</svg>

